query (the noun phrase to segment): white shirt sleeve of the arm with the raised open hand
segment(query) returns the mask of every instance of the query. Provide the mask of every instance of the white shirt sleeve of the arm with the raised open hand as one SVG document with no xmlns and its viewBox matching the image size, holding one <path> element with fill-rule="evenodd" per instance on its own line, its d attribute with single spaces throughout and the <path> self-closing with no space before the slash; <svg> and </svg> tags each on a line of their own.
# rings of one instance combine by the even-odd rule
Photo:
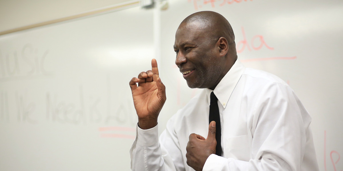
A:
<svg viewBox="0 0 343 171">
<path fill-rule="evenodd" d="M 137 126 L 137 136 L 130 149 L 133 171 L 185 170 L 180 146 L 170 118 L 158 139 L 158 125 L 142 130 Z M 168 147 L 167 149 L 165 147 Z"/>
</svg>

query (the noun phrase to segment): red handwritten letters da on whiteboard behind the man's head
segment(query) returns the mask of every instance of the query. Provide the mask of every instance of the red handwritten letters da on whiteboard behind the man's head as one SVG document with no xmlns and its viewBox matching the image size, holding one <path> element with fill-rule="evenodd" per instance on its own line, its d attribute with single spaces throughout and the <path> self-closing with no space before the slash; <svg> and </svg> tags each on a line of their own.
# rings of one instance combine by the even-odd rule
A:
<svg viewBox="0 0 343 171">
<path fill-rule="evenodd" d="M 243 40 L 239 41 L 236 45 L 236 50 L 237 50 L 237 53 L 241 53 L 245 50 L 245 48 L 247 48 L 249 51 L 251 51 L 251 48 L 253 50 L 260 50 L 262 49 L 262 47 L 266 47 L 267 49 L 269 50 L 274 50 L 274 48 L 270 47 L 265 41 L 264 41 L 264 38 L 262 35 L 255 35 L 251 38 L 251 41 L 250 41 L 250 45 L 251 45 L 251 48 L 250 48 L 250 45 L 249 45 L 249 42 L 247 41 L 247 37 L 245 35 L 245 31 L 244 31 L 244 27 L 242 27 L 242 35 L 243 35 Z M 258 46 L 255 46 L 256 45 L 256 41 L 257 43 L 259 43 Z"/>
</svg>

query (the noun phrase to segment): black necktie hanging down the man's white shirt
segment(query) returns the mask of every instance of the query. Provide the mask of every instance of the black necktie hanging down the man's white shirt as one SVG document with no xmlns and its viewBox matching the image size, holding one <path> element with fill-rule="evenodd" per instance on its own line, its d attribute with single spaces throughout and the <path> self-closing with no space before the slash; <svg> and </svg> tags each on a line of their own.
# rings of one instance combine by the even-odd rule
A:
<svg viewBox="0 0 343 171">
<path fill-rule="evenodd" d="M 220 116 L 219 116 L 219 108 L 217 100 L 218 98 L 214 95 L 213 91 L 210 95 L 210 115 L 209 115 L 209 123 L 215 121 L 216 133 L 215 133 L 215 140 L 217 141 L 216 152 L 215 154 L 218 156 L 222 156 L 222 129 L 220 126 Z"/>
</svg>

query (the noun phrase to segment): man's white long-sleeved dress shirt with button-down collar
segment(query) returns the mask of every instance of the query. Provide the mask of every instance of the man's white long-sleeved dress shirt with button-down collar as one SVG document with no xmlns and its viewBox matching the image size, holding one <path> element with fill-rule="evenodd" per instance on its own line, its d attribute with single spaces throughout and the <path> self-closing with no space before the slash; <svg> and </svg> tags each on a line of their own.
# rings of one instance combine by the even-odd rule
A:
<svg viewBox="0 0 343 171">
<path fill-rule="evenodd" d="M 204 89 L 178 110 L 159 138 L 158 126 L 137 127 L 131 169 L 193 171 L 186 146 L 191 133 L 208 135 L 211 92 Z M 210 155 L 203 171 L 319 171 L 311 117 L 287 83 L 237 60 L 213 92 L 223 153 Z"/>
</svg>

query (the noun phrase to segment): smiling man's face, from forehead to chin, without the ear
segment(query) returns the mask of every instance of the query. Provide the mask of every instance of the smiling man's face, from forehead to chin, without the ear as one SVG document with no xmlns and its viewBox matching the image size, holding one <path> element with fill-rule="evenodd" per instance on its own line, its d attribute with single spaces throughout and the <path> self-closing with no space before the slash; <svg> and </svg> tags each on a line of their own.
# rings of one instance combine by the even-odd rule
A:
<svg viewBox="0 0 343 171">
<path fill-rule="evenodd" d="M 212 88 L 218 84 L 223 72 L 216 48 L 217 39 L 198 29 L 197 23 L 181 24 L 176 31 L 175 64 L 190 88 Z M 185 73 L 186 72 L 186 73 Z"/>
</svg>

